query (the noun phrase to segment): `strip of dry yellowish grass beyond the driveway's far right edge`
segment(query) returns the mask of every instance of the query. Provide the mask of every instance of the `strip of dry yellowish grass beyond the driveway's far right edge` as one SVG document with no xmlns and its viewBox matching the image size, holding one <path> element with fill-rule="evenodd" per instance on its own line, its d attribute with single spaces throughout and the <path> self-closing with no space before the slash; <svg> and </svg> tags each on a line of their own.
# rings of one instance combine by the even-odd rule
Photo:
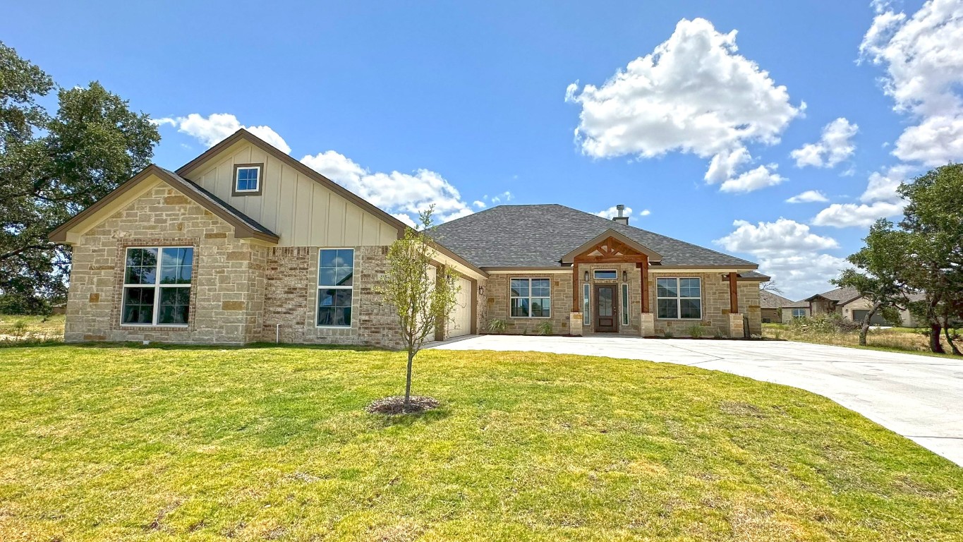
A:
<svg viewBox="0 0 963 542">
<path fill-rule="evenodd" d="M 849 331 L 845 333 L 799 333 L 795 332 L 792 326 L 785 323 L 764 323 L 763 336 L 769 339 L 801 341 L 803 343 L 817 343 L 820 345 L 872 348 L 886 351 L 953 357 L 952 354 L 949 353 L 950 344 L 947 343 L 945 338 L 941 337 L 941 343 L 948 353 L 934 354 L 929 351 L 929 338 L 921 333 L 921 330 L 909 327 L 870 328 L 869 333 L 866 335 L 866 347 L 859 346 L 859 331 Z M 963 346 L 960 341 L 956 341 L 956 344 L 957 346 Z M 959 359 L 959 356 L 955 357 Z"/>
</svg>

